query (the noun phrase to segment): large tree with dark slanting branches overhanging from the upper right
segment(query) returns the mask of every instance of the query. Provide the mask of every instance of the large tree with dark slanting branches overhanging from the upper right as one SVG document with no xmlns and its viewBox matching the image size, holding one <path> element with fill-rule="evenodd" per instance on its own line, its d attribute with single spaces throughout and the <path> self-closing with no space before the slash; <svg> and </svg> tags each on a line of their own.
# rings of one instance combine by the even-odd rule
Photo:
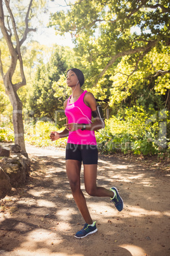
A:
<svg viewBox="0 0 170 256">
<path fill-rule="evenodd" d="M 114 90 L 119 90 L 124 101 L 131 90 L 130 78 L 135 73 L 137 76 L 143 60 L 150 57 L 149 53 L 154 49 L 155 54 L 161 53 L 166 48 L 164 54 L 168 56 L 169 13 L 170 3 L 167 0 L 77 0 L 70 4 L 70 10 L 51 15 L 49 25 L 54 26 L 58 34 L 72 34 L 75 52 L 86 75 L 86 84 L 89 88 L 93 87 L 95 96 L 100 95 L 103 99 L 107 95 L 112 101 Z M 128 78 L 126 86 L 121 78 L 116 85 L 113 81 L 117 72 L 121 72 L 117 69 L 122 60 L 127 64 L 124 66 L 124 76 L 126 80 Z M 158 77 L 162 92 L 167 92 L 169 65 L 164 65 L 164 59 L 161 61 L 162 64 L 156 67 L 161 68 L 152 69 L 149 76 L 150 79 Z M 150 63 L 147 69 L 149 66 Z M 145 67 L 142 66 L 143 73 Z M 143 76 L 145 78 L 148 80 L 147 76 Z M 167 101 L 169 94 L 166 95 Z M 110 106 L 113 106 L 113 102 Z"/>
</svg>

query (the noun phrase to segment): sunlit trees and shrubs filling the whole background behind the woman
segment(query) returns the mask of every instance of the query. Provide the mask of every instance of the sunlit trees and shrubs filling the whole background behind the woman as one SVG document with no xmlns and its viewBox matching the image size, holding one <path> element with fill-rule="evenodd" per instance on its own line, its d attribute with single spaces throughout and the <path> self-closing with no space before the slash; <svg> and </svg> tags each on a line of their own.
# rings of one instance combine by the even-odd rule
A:
<svg viewBox="0 0 170 256">
<path fill-rule="evenodd" d="M 33 38 L 49 0 L 0 1 L 0 141 L 17 142 L 14 123 L 22 120 L 27 143 L 65 146 L 67 138 L 54 143 L 49 133 L 65 124 L 65 75 L 74 67 L 105 114 L 105 129 L 96 132 L 101 152 L 169 155 L 169 1 L 52 2 L 60 10 L 47 26 L 69 33 L 73 48 Z"/>
</svg>

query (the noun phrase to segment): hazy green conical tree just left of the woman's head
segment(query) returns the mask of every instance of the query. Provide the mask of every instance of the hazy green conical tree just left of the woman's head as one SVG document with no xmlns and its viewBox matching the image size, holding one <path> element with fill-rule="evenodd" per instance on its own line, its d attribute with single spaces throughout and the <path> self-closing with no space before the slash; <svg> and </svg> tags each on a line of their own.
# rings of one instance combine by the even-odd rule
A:
<svg viewBox="0 0 170 256">
<path fill-rule="evenodd" d="M 69 47 L 55 45 L 51 50 L 51 57 L 46 64 L 37 66 L 36 74 L 32 79 L 32 90 L 28 100 L 28 110 L 34 118 L 44 118 L 55 121 L 56 111 L 58 115 L 63 110 L 63 101 L 67 95 L 67 85 L 56 85 L 60 76 L 64 75 L 74 62 L 74 52 Z M 62 124 L 62 122 L 60 122 Z"/>
</svg>

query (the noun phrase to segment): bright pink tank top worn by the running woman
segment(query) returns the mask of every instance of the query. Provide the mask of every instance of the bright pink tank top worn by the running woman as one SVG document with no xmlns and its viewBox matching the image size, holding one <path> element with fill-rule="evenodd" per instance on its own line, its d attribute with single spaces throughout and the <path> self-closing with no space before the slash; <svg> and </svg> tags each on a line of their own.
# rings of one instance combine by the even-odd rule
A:
<svg viewBox="0 0 170 256">
<path fill-rule="evenodd" d="M 68 123 L 77 124 L 90 124 L 91 123 L 91 108 L 86 106 L 83 101 L 84 95 L 87 90 L 82 92 L 81 96 L 75 103 L 70 104 L 70 97 L 67 101 L 65 108 L 65 115 L 68 118 Z M 96 145 L 95 131 L 88 131 L 81 129 L 73 132 L 69 132 L 69 138 L 67 143 L 79 144 L 79 145 Z"/>
</svg>

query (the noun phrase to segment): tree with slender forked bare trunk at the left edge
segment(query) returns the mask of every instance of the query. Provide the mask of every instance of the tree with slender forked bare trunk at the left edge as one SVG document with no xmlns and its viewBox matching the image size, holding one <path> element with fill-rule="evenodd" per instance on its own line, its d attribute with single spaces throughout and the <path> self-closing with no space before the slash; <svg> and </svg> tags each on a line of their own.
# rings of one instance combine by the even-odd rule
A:
<svg viewBox="0 0 170 256">
<path fill-rule="evenodd" d="M 33 0 L 30 0 L 28 7 L 24 6 L 24 4 L 25 1 L 18 1 L 18 3 L 15 1 L 15 3 L 11 3 L 10 0 L 0 0 L 1 38 L 5 40 L 10 54 L 10 66 L 7 70 L 5 70 L 3 58 L 1 57 L 3 52 L 0 50 L 0 72 L 1 76 L 3 77 L 6 94 L 9 96 L 10 102 L 13 106 L 13 129 L 15 133 L 15 143 L 20 145 L 22 150 L 25 150 L 22 101 L 20 101 L 20 98 L 18 97 L 17 90 L 23 85 L 26 85 L 26 79 L 23 71 L 21 48 L 27 39 L 29 32 L 36 31 L 35 28 L 30 27 L 30 20 L 36 15 L 33 8 L 42 6 L 43 1 L 37 0 L 33 3 Z M 13 82 L 15 80 L 14 75 L 17 66 L 20 69 L 20 81 Z"/>
</svg>

